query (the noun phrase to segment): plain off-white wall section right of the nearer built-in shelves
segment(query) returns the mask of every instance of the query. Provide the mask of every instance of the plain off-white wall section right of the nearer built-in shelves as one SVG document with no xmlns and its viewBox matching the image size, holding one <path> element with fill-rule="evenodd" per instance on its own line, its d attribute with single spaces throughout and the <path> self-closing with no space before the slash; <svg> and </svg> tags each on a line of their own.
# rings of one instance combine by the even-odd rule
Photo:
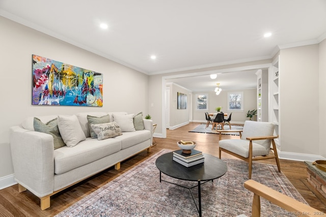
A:
<svg viewBox="0 0 326 217">
<path fill-rule="evenodd" d="M 320 154 L 318 55 L 318 44 L 280 51 L 282 152 Z"/>
</svg>

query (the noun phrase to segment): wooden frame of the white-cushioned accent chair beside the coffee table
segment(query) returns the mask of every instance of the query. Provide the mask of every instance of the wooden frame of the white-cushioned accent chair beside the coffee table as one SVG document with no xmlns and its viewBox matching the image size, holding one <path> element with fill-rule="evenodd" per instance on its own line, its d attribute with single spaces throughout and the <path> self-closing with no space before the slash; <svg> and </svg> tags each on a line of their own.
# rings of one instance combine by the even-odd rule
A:
<svg viewBox="0 0 326 217">
<path fill-rule="evenodd" d="M 239 132 L 240 137 L 242 130 L 219 130 L 218 131 L 220 133 L 220 137 L 221 138 L 221 134 L 223 132 Z M 242 156 L 240 156 L 239 154 L 233 153 L 232 151 L 226 150 L 224 148 L 219 147 L 219 158 L 221 159 L 221 152 L 224 151 L 228 154 L 231 154 L 234 157 L 237 157 L 243 161 L 246 161 L 249 163 L 249 179 L 251 179 L 251 173 L 252 173 L 252 162 L 253 161 L 259 161 L 259 160 L 265 160 L 265 159 L 275 159 L 276 160 L 276 164 L 277 164 L 277 168 L 279 170 L 279 172 L 281 172 L 281 166 L 280 166 L 280 161 L 279 161 L 279 156 L 277 154 L 277 149 L 276 149 L 276 144 L 274 139 L 277 139 L 279 136 L 257 136 L 257 137 L 247 137 L 246 139 L 249 140 L 249 157 L 248 158 L 244 158 Z M 271 144 L 273 146 L 273 148 L 271 147 L 270 150 L 273 150 L 273 155 L 268 154 L 267 156 L 259 156 L 259 157 L 253 157 L 253 141 L 255 140 L 263 140 L 263 139 L 271 139 Z"/>
</svg>

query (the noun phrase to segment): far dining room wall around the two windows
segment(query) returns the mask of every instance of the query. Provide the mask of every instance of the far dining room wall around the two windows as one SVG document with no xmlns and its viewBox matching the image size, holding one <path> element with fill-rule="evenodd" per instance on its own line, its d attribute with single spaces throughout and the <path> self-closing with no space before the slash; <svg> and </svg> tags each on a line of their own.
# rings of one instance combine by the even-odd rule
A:
<svg viewBox="0 0 326 217">
<path fill-rule="evenodd" d="M 228 92 L 243 92 L 243 111 L 228 110 Z M 208 111 L 196 110 L 196 94 L 208 94 Z M 248 110 L 257 109 L 257 89 L 238 89 L 238 90 L 222 90 L 220 95 L 216 95 L 214 91 L 194 92 L 194 121 L 205 121 L 205 112 L 215 113 L 215 108 L 222 106 L 222 111 L 232 112 L 231 122 L 243 123 L 249 120 L 247 117 Z"/>
</svg>

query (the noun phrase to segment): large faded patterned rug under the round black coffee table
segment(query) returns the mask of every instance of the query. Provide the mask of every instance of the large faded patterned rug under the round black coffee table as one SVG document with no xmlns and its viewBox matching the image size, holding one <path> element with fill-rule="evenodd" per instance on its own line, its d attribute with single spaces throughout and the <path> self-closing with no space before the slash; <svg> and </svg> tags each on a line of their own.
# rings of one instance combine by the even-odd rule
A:
<svg viewBox="0 0 326 217">
<path fill-rule="evenodd" d="M 198 216 L 188 189 L 159 182 L 155 160 L 169 151 L 162 149 L 56 216 Z M 226 174 L 213 182 L 202 184 L 202 216 L 251 216 L 253 193 L 243 187 L 243 182 L 248 180 L 248 164 L 240 160 L 223 160 L 228 166 Z M 252 178 L 306 203 L 274 165 L 254 162 Z M 162 179 L 194 185 L 194 182 L 180 181 L 165 174 L 162 174 Z M 193 193 L 197 198 L 197 187 Z M 261 198 L 261 216 L 290 214 Z"/>
</svg>

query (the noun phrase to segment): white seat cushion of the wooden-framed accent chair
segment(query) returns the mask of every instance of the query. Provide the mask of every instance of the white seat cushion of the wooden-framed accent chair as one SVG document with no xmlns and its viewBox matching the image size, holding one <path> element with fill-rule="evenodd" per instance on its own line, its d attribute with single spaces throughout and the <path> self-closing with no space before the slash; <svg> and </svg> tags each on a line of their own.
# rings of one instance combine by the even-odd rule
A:
<svg viewBox="0 0 326 217">
<path fill-rule="evenodd" d="M 242 139 L 224 139 L 219 142 L 221 148 L 229 150 L 244 158 L 249 157 L 249 140 Z M 258 143 L 253 142 L 253 157 L 268 155 L 269 149 Z"/>
</svg>

